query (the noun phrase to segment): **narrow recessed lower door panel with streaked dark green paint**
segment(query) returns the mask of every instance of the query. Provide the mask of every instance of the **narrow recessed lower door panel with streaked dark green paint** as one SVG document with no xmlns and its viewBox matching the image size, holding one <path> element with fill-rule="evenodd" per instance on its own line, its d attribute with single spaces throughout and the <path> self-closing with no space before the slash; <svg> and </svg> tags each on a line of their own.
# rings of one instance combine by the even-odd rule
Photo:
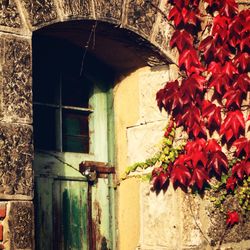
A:
<svg viewBox="0 0 250 250">
<path fill-rule="evenodd" d="M 54 249 L 88 249 L 87 182 L 53 183 Z"/>
</svg>

